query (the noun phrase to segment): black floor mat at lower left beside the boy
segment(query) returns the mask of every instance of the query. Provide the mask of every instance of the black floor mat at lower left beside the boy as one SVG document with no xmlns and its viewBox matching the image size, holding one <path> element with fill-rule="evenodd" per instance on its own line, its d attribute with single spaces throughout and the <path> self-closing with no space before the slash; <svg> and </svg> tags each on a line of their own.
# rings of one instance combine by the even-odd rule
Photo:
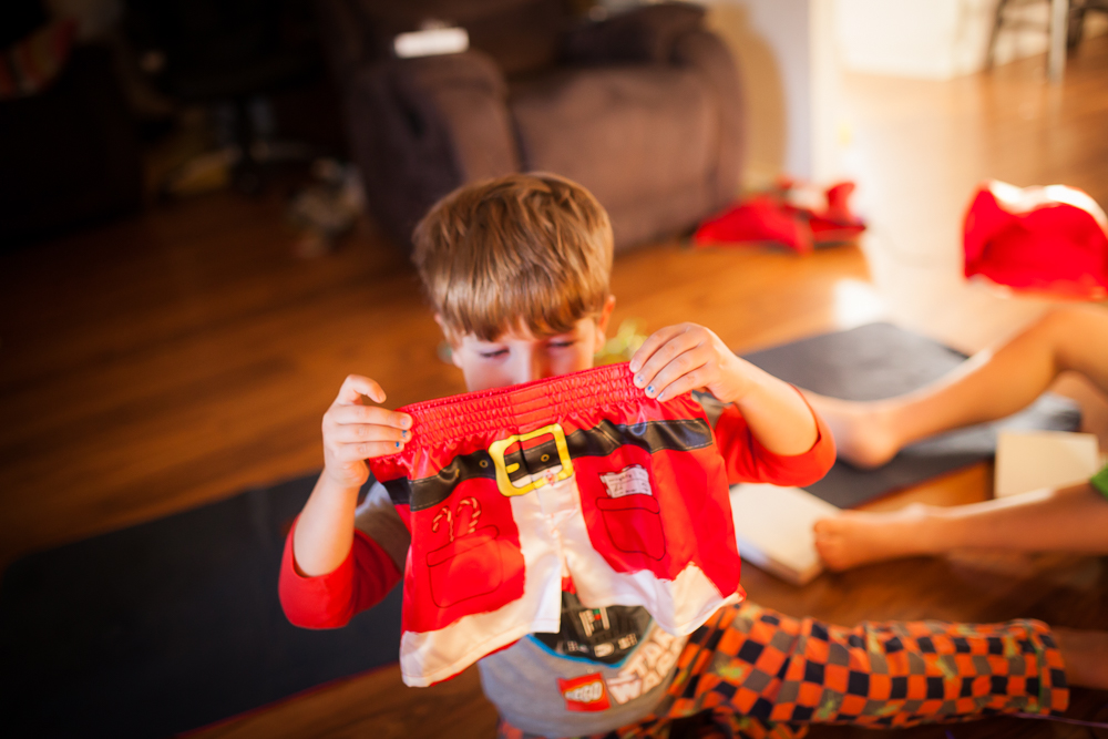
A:
<svg viewBox="0 0 1108 739">
<path fill-rule="evenodd" d="M 316 475 L 29 555 L 0 584 L 4 737 L 165 737 L 393 663 L 400 601 L 335 630 L 277 599 Z"/>
</svg>

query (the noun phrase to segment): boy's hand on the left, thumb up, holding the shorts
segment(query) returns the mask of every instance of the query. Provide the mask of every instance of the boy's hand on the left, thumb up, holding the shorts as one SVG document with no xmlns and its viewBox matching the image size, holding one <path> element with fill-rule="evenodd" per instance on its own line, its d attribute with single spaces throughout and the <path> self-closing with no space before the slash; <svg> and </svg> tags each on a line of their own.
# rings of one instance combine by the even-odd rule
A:
<svg viewBox="0 0 1108 739">
<path fill-rule="evenodd" d="M 324 413 L 324 474 L 343 487 L 369 479 L 366 460 L 396 454 L 411 438 L 412 418 L 387 408 L 384 390 L 361 374 L 350 374 Z"/>
</svg>

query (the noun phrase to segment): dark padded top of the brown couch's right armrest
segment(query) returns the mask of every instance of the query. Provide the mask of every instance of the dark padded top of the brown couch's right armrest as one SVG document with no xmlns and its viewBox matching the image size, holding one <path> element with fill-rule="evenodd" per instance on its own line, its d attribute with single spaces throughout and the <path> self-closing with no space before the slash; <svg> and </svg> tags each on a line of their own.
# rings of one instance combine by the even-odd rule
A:
<svg viewBox="0 0 1108 739">
<path fill-rule="evenodd" d="M 665 63 L 674 44 L 700 28 L 704 8 L 665 2 L 636 8 L 604 21 L 586 21 L 565 38 L 565 60 L 571 63 Z"/>
</svg>

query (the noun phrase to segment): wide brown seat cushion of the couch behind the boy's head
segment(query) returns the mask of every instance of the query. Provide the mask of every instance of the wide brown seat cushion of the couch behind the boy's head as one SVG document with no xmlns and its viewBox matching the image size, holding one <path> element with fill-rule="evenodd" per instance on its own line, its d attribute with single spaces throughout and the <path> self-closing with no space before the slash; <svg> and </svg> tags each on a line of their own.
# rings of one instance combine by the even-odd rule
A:
<svg viewBox="0 0 1108 739">
<path fill-rule="evenodd" d="M 570 177 L 609 211 L 700 187 L 715 172 L 719 115 L 691 70 L 564 72 L 514 86 L 509 106 L 523 168 Z"/>
</svg>

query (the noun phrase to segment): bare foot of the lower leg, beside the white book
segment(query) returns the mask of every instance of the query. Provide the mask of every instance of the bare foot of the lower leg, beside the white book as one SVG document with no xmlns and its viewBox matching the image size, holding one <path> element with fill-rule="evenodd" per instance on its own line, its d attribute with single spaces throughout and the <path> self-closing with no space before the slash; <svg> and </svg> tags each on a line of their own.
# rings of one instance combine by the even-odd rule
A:
<svg viewBox="0 0 1108 739">
<path fill-rule="evenodd" d="M 815 522 L 815 550 L 829 569 L 926 554 L 922 530 L 930 509 L 919 503 L 889 513 L 844 511 Z"/>
</svg>

